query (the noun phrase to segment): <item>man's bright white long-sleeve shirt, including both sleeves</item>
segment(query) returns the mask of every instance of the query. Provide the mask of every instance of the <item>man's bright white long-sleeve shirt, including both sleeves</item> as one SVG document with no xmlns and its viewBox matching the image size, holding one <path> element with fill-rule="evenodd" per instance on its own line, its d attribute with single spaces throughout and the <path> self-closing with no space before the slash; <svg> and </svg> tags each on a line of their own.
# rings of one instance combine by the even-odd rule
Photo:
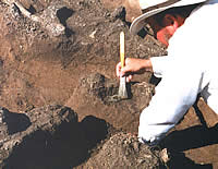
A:
<svg viewBox="0 0 218 169">
<path fill-rule="evenodd" d="M 202 94 L 218 113 L 218 0 L 197 8 L 169 41 L 168 56 L 152 58 L 161 76 L 156 94 L 140 117 L 138 137 L 156 143 Z"/>
</svg>

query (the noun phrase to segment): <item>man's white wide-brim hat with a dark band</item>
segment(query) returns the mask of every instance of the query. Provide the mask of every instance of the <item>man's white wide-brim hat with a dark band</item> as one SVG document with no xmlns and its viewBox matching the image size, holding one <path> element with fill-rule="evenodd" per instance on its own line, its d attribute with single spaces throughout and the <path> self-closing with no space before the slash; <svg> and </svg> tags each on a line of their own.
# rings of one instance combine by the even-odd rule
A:
<svg viewBox="0 0 218 169">
<path fill-rule="evenodd" d="M 138 1 L 140 1 L 140 7 L 144 13 L 132 22 L 130 26 L 131 34 L 137 34 L 144 26 L 144 20 L 152 15 L 155 15 L 170 8 L 196 4 L 201 2 L 206 2 L 207 0 L 138 0 Z"/>
</svg>

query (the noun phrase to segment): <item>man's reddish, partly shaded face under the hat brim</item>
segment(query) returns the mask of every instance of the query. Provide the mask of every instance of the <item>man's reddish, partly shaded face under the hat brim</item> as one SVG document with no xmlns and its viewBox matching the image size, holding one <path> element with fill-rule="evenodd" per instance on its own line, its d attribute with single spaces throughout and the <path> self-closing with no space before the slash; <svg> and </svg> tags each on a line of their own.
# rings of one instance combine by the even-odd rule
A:
<svg viewBox="0 0 218 169">
<path fill-rule="evenodd" d="M 148 17 L 146 22 L 154 31 L 155 37 L 168 47 L 169 39 L 174 32 L 184 23 L 184 17 L 180 15 L 165 14 L 161 20 L 156 16 Z"/>
</svg>

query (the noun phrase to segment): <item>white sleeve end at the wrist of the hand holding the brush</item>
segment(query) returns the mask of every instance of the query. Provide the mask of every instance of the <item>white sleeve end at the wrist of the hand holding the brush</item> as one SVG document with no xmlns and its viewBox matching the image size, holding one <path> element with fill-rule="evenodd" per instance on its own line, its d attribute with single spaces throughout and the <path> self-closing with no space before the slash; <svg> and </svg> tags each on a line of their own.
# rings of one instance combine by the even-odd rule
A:
<svg viewBox="0 0 218 169">
<path fill-rule="evenodd" d="M 170 56 L 150 58 L 150 62 L 153 64 L 153 72 L 156 77 L 162 77 L 166 68 L 168 68 L 169 58 Z"/>
</svg>

